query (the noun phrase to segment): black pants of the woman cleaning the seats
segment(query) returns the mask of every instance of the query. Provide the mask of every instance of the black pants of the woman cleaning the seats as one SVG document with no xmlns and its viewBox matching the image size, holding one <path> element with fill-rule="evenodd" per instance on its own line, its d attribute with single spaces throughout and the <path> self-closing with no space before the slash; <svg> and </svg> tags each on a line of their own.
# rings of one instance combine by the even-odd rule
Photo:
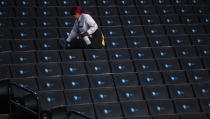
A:
<svg viewBox="0 0 210 119">
<path fill-rule="evenodd" d="M 92 38 L 89 37 L 91 44 L 87 45 L 83 39 L 72 39 L 70 42 L 70 49 L 100 49 L 103 48 L 102 45 L 102 34 L 100 30 L 96 30 L 92 34 Z"/>
</svg>

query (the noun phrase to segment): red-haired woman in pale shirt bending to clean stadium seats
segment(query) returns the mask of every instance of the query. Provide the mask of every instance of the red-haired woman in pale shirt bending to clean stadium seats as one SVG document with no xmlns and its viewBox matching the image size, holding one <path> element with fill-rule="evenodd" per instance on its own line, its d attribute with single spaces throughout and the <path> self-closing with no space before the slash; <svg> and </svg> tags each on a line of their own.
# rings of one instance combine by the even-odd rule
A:
<svg viewBox="0 0 210 119">
<path fill-rule="evenodd" d="M 105 46 L 104 36 L 95 20 L 79 6 L 71 9 L 74 26 L 66 39 L 71 49 L 99 49 Z"/>
</svg>

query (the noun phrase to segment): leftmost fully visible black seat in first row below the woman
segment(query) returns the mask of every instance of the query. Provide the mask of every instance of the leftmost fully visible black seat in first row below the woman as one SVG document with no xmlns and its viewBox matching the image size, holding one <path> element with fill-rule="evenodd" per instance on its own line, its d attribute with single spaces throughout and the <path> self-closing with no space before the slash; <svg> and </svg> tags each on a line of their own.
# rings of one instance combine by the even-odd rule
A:
<svg viewBox="0 0 210 119">
<path fill-rule="evenodd" d="M 36 54 L 34 52 L 13 52 L 12 59 L 14 63 L 36 63 Z"/>
</svg>

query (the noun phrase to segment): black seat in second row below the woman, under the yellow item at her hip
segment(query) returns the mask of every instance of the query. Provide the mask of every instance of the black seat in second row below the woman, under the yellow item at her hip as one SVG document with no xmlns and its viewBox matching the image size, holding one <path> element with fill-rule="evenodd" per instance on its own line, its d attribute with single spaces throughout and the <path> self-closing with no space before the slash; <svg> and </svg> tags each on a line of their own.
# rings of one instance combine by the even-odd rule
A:
<svg viewBox="0 0 210 119">
<path fill-rule="evenodd" d="M 110 73 L 110 68 L 107 61 L 91 61 L 86 62 L 88 74 Z"/>
</svg>

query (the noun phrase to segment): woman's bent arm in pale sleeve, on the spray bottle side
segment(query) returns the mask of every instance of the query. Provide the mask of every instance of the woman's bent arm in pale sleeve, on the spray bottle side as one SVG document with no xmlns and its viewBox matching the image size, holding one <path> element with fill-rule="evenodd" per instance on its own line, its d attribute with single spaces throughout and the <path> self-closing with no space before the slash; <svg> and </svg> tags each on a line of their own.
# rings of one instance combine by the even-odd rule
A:
<svg viewBox="0 0 210 119">
<path fill-rule="evenodd" d="M 85 16 L 85 22 L 89 25 L 89 29 L 87 30 L 87 33 L 93 34 L 97 29 L 98 29 L 98 25 L 96 24 L 95 20 L 89 15 L 87 14 Z"/>
</svg>

